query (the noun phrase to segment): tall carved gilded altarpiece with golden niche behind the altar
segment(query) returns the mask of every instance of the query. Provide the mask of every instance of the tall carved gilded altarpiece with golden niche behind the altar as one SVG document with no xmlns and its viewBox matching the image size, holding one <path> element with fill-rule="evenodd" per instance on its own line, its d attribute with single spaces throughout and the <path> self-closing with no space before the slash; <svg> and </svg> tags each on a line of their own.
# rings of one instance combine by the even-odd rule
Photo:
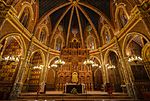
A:
<svg viewBox="0 0 150 101">
<path fill-rule="evenodd" d="M 91 66 L 83 62 L 89 55 L 86 48 L 81 48 L 79 42 L 70 42 L 61 50 L 61 59 L 65 64 L 57 69 L 56 89 L 64 90 L 65 84 L 84 84 L 86 91 L 93 90 L 93 74 Z"/>
</svg>

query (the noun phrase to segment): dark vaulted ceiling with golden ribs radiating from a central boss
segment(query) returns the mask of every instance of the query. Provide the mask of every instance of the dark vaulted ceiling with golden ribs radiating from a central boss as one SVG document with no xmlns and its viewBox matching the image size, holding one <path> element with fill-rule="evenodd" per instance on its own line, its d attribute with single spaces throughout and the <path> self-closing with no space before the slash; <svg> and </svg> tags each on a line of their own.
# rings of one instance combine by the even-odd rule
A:
<svg viewBox="0 0 150 101">
<path fill-rule="evenodd" d="M 52 37 L 59 25 L 63 26 L 64 37 L 69 40 L 70 32 L 78 30 L 80 41 L 84 44 L 84 30 L 87 25 L 99 43 L 98 23 L 100 15 L 110 19 L 110 0 L 39 0 L 39 16 L 48 15 L 52 24 Z"/>
</svg>

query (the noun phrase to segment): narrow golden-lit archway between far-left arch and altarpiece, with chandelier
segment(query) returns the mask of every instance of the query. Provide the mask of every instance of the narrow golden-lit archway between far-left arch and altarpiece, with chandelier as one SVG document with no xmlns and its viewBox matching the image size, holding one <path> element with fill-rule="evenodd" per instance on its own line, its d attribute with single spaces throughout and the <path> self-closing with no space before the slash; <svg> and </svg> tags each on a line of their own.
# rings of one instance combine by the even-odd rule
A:
<svg viewBox="0 0 150 101">
<path fill-rule="evenodd" d="M 44 68 L 42 54 L 39 51 L 32 54 L 29 68 L 29 75 L 26 79 L 26 83 L 28 84 L 27 90 L 35 92 L 40 86 L 42 69 Z"/>
</svg>

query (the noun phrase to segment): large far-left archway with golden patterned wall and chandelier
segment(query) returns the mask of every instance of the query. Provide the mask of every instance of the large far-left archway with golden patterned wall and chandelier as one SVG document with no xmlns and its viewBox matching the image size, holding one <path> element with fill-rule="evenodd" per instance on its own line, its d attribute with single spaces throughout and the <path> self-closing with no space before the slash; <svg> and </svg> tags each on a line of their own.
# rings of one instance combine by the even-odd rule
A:
<svg viewBox="0 0 150 101">
<path fill-rule="evenodd" d="M 20 37 L 15 35 L 7 36 L 0 44 L 0 81 L 5 82 L 0 89 L 0 98 L 7 99 L 16 80 L 24 49 Z"/>
</svg>

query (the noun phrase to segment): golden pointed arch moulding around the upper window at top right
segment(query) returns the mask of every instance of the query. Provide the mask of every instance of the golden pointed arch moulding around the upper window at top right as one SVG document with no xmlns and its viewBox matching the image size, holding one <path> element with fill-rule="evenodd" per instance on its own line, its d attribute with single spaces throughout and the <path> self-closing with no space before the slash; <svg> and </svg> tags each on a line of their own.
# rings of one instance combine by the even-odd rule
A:
<svg viewBox="0 0 150 101">
<path fill-rule="evenodd" d="M 126 5 L 124 3 L 120 3 L 117 5 L 116 7 L 116 11 L 115 11 L 115 22 L 117 23 L 117 28 L 120 29 L 120 20 L 118 18 L 118 15 L 119 15 L 119 11 L 122 9 L 123 12 L 125 13 L 125 16 L 127 17 L 127 19 L 129 19 L 129 15 L 128 15 L 128 12 L 126 10 Z"/>
</svg>

